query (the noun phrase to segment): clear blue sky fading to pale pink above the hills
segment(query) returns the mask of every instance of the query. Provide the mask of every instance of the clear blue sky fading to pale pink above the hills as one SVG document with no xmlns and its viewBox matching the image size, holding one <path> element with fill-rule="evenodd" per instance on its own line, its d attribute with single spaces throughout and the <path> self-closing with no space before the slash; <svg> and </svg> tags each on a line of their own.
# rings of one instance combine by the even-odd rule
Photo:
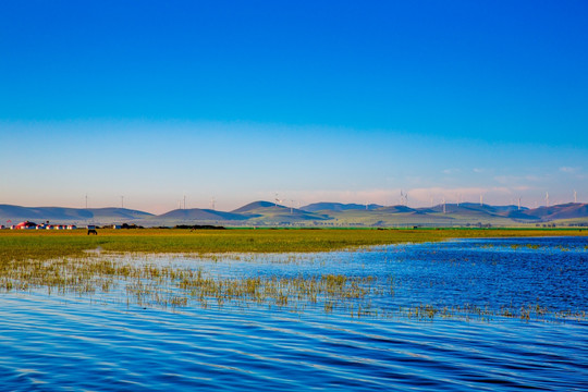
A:
<svg viewBox="0 0 588 392">
<path fill-rule="evenodd" d="M 588 201 L 587 20 L 583 0 L 3 2 L 0 204 Z"/>
</svg>

